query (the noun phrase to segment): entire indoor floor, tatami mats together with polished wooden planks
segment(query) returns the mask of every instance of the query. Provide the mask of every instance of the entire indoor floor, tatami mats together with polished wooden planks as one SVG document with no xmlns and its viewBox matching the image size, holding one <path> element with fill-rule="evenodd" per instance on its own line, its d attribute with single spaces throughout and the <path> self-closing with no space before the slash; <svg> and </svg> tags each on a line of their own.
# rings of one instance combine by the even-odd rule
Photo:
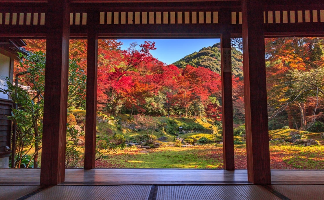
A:
<svg viewBox="0 0 324 200">
<path fill-rule="evenodd" d="M 66 169 L 41 187 L 40 169 L 0 169 L 0 199 L 323 199 L 324 170 L 272 170 L 272 185 L 253 185 L 247 170 Z"/>
</svg>

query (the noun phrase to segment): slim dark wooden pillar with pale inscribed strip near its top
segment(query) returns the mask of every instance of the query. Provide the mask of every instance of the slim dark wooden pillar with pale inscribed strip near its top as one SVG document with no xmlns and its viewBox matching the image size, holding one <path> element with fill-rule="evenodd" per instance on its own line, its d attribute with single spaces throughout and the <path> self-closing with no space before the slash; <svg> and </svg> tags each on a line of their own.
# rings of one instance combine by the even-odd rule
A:
<svg viewBox="0 0 324 200">
<path fill-rule="evenodd" d="M 231 36 L 229 33 L 222 34 L 221 57 L 224 169 L 234 170 L 235 166 L 232 98 L 232 50 Z"/>
</svg>

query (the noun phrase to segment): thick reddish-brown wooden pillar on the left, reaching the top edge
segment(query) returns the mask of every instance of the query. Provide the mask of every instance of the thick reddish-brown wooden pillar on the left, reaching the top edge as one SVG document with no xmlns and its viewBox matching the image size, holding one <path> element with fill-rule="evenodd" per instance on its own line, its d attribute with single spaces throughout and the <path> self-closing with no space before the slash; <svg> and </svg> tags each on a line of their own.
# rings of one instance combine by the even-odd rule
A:
<svg viewBox="0 0 324 200">
<path fill-rule="evenodd" d="M 69 67 L 69 1 L 48 0 L 41 185 L 64 181 Z"/>
</svg>

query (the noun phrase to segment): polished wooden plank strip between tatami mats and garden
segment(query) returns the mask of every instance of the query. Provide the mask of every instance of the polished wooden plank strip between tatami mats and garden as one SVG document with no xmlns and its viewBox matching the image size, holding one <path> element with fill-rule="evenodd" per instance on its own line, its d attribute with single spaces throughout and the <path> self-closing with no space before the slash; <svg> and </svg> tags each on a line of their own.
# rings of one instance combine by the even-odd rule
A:
<svg viewBox="0 0 324 200">
<path fill-rule="evenodd" d="M 273 185 L 324 185 L 324 170 L 271 170 Z M 40 169 L 0 169 L 0 185 L 39 185 Z M 237 169 L 66 169 L 61 185 L 251 184 Z"/>
</svg>

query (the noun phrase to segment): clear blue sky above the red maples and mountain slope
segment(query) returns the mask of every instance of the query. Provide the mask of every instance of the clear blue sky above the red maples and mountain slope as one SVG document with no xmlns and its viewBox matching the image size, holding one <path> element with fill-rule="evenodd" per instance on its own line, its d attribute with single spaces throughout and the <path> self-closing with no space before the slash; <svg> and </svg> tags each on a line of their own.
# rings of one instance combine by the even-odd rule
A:
<svg viewBox="0 0 324 200">
<path fill-rule="evenodd" d="M 118 40 L 123 43 L 121 49 L 126 49 L 132 42 L 143 44 L 145 40 Z M 199 51 L 203 47 L 212 46 L 219 43 L 220 39 L 147 39 L 154 41 L 156 50 L 151 54 L 158 60 L 172 64 L 175 61 L 187 56 L 195 51 Z"/>
</svg>

